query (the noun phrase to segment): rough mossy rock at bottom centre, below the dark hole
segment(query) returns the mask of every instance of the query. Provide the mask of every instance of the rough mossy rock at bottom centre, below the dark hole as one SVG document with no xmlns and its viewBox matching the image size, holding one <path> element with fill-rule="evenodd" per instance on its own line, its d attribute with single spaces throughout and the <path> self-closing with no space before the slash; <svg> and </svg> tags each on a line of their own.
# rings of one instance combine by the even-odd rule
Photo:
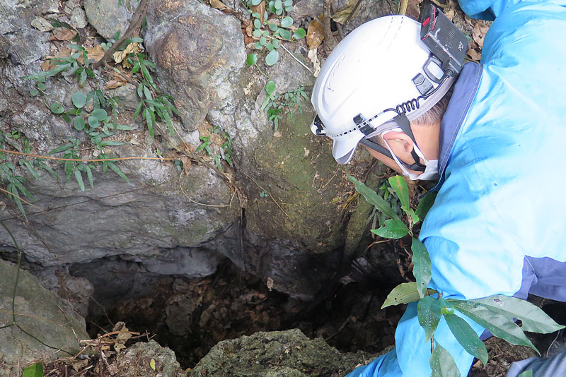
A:
<svg viewBox="0 0 566 377">
<path fill-rule="evenodd" d="M 362 352 L 342 354 L 301 330 L 255 333 L 224 340 L 189 372 L 189 377 L 326 377 L 345 376 L 370 357 Z"/>
</svg>

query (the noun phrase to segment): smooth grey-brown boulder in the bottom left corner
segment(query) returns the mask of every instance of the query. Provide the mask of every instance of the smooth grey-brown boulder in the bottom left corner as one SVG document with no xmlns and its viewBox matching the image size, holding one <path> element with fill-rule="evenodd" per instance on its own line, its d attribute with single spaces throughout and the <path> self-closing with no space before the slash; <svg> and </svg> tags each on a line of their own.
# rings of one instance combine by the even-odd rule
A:
<svg viewBox="0 0 566 377">
<path fill-rule="evenodd" d="M 17 270 L 17 265 L 0 260 L 0 326 L 13 323 L 12 294 Z M 19 273 L 14 304 L 18 326 L 0 329 L 2 377 L 36 361 L 74 356 L 80 349 L 79 340 L 89 339 L 84 318 L 25 270 Z"/>
</svg>

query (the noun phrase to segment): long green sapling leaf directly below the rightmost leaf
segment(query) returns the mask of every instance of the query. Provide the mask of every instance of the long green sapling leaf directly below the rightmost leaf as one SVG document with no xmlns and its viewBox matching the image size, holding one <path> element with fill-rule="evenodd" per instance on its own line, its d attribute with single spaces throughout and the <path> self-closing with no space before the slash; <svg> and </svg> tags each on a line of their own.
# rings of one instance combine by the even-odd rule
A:
<svg viewBox="0 0 566 377">
<path fill-rule="evenodd" d="M 483 328 L 490 330 L 493 335 L 500 337 L 512 345 L 524 345 L 531 347 L 536 352 L 535 346 L 527 337 L 523 330 L 519 328 L 511 319 L 503 316 L 502 314 L 490 311 L 482 304 L 475 304 L 473 301 L 467 300 L 447 300 L 452 304 L 457 311 L 468 316 L 472 321 L 478 323 Z M 540 355 L 541 353 L 538 352 Z"/>
</svg>

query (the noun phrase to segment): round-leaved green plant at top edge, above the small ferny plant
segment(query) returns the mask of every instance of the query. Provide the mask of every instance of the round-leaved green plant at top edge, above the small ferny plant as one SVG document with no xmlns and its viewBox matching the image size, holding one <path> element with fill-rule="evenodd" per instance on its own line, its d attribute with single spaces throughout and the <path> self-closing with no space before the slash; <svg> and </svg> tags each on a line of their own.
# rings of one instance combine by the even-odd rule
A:
<svg viewBox="0 0 566 377">
<path fill-rule="evenodd" d="M 265 0 L 248 0 L 247 6 L 255 8 Z M 257 8 L 256 8 L 257 10 Z M 265 55 L 265 64 L 272 66 L 279 60 L 279 40 L 292 42 L 300 40 L 306 36 L 303 28 L 293 28 L 293 18 L 285 16 L 286 12 L 293 10 L 293 0 L 270 0 L 264 14 L 249 9 L 248 12 L 253 19 L 253 37 L 255 42 L 254 48 L 258 53 L 267 50 Z M 258 62 L 258 54 L 248 54 L 246 64 L 253 66 Z"/>
</svg>

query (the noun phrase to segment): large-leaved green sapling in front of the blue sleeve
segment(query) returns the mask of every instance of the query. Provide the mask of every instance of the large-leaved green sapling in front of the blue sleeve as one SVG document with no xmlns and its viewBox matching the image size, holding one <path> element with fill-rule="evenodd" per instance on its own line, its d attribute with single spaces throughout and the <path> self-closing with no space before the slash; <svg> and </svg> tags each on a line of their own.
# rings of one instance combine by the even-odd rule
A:
<svg viewBox="0 0 566 377">
<path fill-rule="evenodd" d="M 405 215 L 405 222 L 407 222 L 405 224 L 398 213 L 391 208 L 391 205 L 374 190 L 352 176 L 350 176 L 350 181 L 354 183 L 356 190 L 366 198 L 368 203 L 374 205 L 383 215 L 389 217 L 379 229 L 373 229 L 371 232 L 388 239 L 400 239 L 408 235 L 411 237 L 413 275 L 415 275 L 417 281 L 403 283 L 395 287 L 388 294 L 381 308 L 417 301 L 418 321 L 425 331 L 426 339 L 431 342 L 430 367 L 432 376 L 460 376 L 451 354 L 434 339 L 434 332 L 437 330 L 441 318 L 446 320 L 451 332 L 463 349 L 473 357 L 480 359 L 484 365 L 487 365 L 487 349 L 462 316 L 470 318 L 478 325 L 490 330 L 496 337 L 500 337 L 512 345 L 531 347 L 536 352 L 538 352 L 538 349 L 526 337 L 524 331 L 553 333 L 565 327 L 555 323 L 537 306 L 514 297 L 496 294 L 473 300 L 444 299 L 442 292 L 427 288 L 431 279 L 432 264 L 427 249 L 421 241 L 415 238 L 412 227 L 427 215 L 434 203 L 434 196 L 430 194 L 424 196 L 416 210 L 413 210 L 410 207 L 408 186 L 403 177 L 393 176 L 388 179 L 391 188 L 399 198 L 401 209 Z M 459 316 L 456 311 L 460 313 Z M 516 325 L 514 318 L 521 321 L 521 327 Z"/>
</svg>

